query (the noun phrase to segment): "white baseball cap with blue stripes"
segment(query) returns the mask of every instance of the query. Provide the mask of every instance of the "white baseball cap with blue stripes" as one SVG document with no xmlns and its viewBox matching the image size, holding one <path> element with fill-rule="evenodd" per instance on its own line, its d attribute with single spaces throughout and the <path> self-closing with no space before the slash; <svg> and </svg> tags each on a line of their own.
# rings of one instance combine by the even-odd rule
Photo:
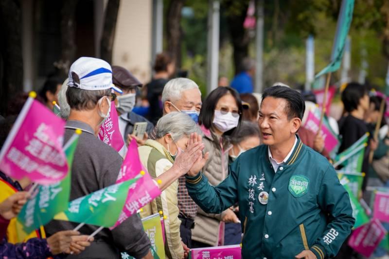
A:
<svg viewBox="0 0 389 259">
<path fill-rule="evenodd" d="M 112 68 L 102 59 L 81 57 L 71 64 L 68 86 L 84 90 L 113 89 L 123 93 L 112 83 Z"/>
</svg>

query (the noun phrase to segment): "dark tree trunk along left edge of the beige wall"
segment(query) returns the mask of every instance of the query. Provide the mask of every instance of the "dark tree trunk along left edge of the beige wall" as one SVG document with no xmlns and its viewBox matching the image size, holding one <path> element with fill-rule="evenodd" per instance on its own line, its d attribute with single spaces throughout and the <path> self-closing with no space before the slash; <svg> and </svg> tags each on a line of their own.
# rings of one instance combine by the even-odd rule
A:
<svg viewBox="0 0 389 259">
<path fill-rule="evenodd" d="M 104 29 L 101 37 L 101 59 L 109 64 L 112 63 L 113 41 L 115 39 L 116 21 L 118 19 L 120 0 L 108 0 Z"/>
</svg>

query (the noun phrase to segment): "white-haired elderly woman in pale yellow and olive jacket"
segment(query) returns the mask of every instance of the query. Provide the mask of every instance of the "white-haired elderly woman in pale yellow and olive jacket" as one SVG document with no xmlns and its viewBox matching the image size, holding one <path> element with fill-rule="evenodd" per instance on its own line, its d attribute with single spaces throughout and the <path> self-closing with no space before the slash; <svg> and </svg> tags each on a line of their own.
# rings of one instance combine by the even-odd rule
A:
<svg viewBox="0 0 389 259">
<path fill-rule="evenodd" d="M 149 174 L 156 178 L 174 163 L 180 152 L 185 152 L 191 133 L 201 134 L 197 124 L 184 113 L 166 114 L 157 123 L 156 140 L 147 140 L 139 147 L 139 156 Z M 178 180 L 174 181 L 160 197 L 147 204 L 141 212 L 146 217 L 162 210 L 166 216 L 165 223 L 165 253 L 167 258 L 184 258 L 189 249 L 181 242 L 180 220 L 178 219 L 177 200 Z M 185 249 L 185 250 L 184 250 Z"/>
</svg>

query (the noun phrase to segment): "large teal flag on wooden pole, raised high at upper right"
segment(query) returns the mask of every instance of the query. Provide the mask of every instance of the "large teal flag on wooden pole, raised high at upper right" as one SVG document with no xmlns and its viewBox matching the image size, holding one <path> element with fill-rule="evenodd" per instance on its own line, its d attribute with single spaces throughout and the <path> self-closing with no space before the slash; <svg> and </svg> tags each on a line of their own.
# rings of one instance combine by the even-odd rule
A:
<svg viewBox="0 0 389 259">
<path fill-rule="evenodd" d="M 353 19 L 353 10 L 354 0 L 342 0 L 342 5 L 340 7 L 336 23 L 336 34 L 331 52 L 331 62 L 323 70 L 321 70 L 315 78 L 339 69 L 340 64 L 342 63 L 347 34 L 349 33 L 351 21 Z"/>
</svg>

